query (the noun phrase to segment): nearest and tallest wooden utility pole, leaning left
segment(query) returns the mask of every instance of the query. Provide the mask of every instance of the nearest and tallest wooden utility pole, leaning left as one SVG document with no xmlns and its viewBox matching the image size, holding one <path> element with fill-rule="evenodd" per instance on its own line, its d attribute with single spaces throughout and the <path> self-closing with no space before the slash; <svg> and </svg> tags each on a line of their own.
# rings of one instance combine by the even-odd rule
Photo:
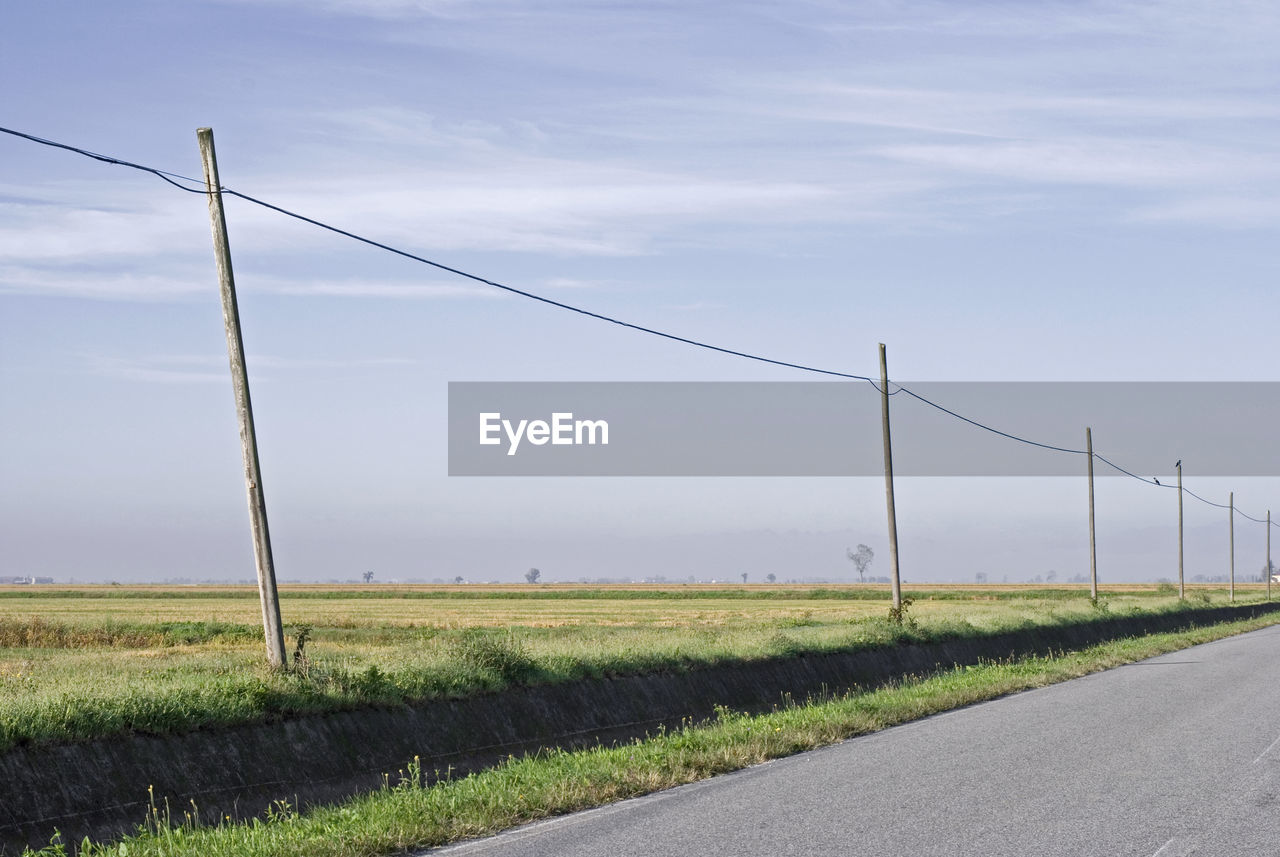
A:
<svg viewBox="0 0 1280 857">
<path fill-rule="evenodd" d="M 257 591 L 262 600 L 262 633 L 266 637 L 266 660 L 273 668 L 284 666 L 284 631 L 280 627 L 280 601 L 275 592 L 275 563 L 271 560 L 271 533 L 266 526 L 266 498 L 262 494 L 262 472 L 257 463 L 257 435 L 253 432 L 253 405 L 248 398 L 248 372 L 244 368 L 244 343 L 241 339 L 239 310 L 236 304 L 236 278 L 232 275 L 232 248 L 227 239 L 227 216 L 223 214 L 221 183 L 218 157 L 214 153 L 212 128 L 196 130 L 200 160 L 205 166 L 205 188 L 209 193 L 209 220 L 214 228 L 214 257 L 218 261 L 218 284 L 223 295 L 223 324 L 227 327 L 227 353 L 232 363 L 232 385 L 236 389 L 236 416 L 239 418 L 241 452 L 244 458 L 244 482 L 248 486 L 248 521 L 253 533 L 253 563 L 257 565 Z"/>
</svg>

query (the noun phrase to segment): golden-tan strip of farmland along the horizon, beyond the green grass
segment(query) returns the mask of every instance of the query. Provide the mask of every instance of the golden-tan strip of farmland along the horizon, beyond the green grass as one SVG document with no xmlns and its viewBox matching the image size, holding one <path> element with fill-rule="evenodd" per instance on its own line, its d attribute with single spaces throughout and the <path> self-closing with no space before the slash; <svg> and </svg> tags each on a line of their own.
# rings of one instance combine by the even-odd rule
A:
<svg viewBox="0 0 1280 857">
<path fill-rule="evenodd" d="M 1221 586 L 1188 587 L 1225 601 Z M 1243 590 L 1244 587 L 1236 587 Z M 1252 587 L 1252 595 L 1261 585 Z M 908 588 L 919 619 L 996 622 L 1046 611 L 1088 611 L 1087 586 L 929 586 Z M 1176 597 L 1151 585 L 1110 586 L 1112 609 L 1172 604 Z M 887 586 L 330 586 L 280 587 L 285 624 L 314 628 L 552 628 L 616 625 L 678 628 L 778 622 L 851 622 L 881 617 Z M 0 620 L 41 617 L 93 627 L 110 622 L 261 622 L 257 590 L 250 586 L 79 586 L 0 587 Z"/>
</svg>

